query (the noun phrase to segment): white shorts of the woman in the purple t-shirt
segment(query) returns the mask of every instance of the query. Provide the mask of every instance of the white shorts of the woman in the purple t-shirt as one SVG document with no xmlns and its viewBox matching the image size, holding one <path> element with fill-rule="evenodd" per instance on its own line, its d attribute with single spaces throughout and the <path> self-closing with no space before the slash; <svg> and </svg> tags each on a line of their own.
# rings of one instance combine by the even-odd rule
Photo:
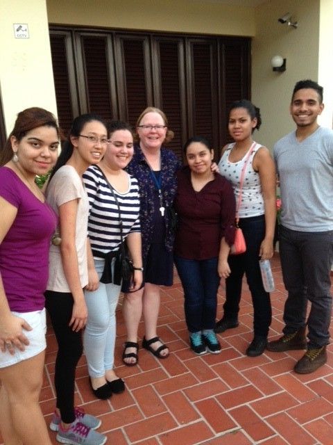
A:
<svg viewBox="0 0 333 445">
<path fill-rule="evenodd" d="M 23 360 L 30 359 L 37 354 L 40 354 L 42 350 L 46 348 L 46 311 L 45 308 L 42 311 L 33 312 L 14 312 L 13 315 L 24 318 L 29 325 L 33 328 L 31 331 L 23 330 L 24 335 L 28 338 L 28 346 L 24 346 L 25 349 L 19 350 L 15 348 L 14 355 L 11 355 L 8 350 L 2 352 L 0 350 L 0 368 L 6 368 L 6 366 L 12 366 L 22 362 Z"/>
</svg>

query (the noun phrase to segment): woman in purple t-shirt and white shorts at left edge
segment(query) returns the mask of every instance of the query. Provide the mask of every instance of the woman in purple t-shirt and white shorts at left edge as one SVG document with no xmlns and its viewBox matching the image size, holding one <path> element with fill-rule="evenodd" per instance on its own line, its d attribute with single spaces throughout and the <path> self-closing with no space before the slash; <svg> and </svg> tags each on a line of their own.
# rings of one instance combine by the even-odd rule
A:
<svg viewBox="0 0 333 445">
<path fill-rule="evenodd" d="M 0 156 L 0 428 L 6 444 L 51 445 L 39 396 L 43 293 L 57 218 L 35 184 L 56 162 L 59 129 L 42 108 L 17 116 Z"/>
</svg>

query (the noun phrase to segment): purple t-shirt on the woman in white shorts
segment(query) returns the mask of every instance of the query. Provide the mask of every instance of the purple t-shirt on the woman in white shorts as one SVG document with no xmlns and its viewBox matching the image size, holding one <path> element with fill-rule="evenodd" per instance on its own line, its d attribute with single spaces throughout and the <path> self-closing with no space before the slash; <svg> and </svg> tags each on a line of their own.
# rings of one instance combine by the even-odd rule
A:
<svg viewBox="0 0 333 445">
<path fill-rule="evenodd" d="M 0 168 L 0 196 L 17 208 L 17 216 L 0 244 L 0 273 L 10 310 L 41 310 L 56 214 L 7 167 Z"/>
</svg>

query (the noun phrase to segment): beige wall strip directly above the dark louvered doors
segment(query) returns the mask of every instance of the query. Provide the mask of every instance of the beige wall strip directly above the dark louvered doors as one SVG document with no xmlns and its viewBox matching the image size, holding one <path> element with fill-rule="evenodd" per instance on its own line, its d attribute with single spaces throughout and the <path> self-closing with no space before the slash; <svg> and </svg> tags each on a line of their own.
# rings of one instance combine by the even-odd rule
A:
<svg viewBox="0 0 333 445">
<path fill-rule="evenodd" d="M 216 0 L 47 0 L 49 22 L 184 33 L 254 35 L 254 8 Z"/>
</svg>

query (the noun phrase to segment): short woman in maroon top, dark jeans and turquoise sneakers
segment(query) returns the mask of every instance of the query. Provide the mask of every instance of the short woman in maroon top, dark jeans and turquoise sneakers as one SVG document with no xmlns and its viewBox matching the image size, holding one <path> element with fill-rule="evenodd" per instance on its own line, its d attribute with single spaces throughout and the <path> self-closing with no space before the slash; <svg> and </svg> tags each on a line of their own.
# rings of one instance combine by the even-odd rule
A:
<svg viewBox="0 0 333 445">
<path fill-rule="evenodd" d="M 234 241 L 234 193 L 229 181 L 212 172 L 214 150 L 205 138 L 184 147 L 188 167 L 178 173 L 175 263 L 185 294 L 185 318 L 194 353 L 221 352 L 214 333 L 217 289 L 228 277 Z"/>
</svg>

